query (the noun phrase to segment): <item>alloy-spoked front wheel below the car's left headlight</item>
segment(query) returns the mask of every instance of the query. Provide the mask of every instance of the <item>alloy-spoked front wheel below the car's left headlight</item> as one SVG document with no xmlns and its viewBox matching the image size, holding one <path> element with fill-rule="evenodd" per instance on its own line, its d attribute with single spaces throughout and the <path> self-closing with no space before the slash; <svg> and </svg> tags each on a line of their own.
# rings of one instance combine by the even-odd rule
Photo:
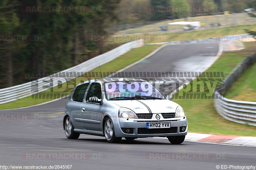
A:
<svg viewBox="0 0 256 170">
<path fill-rule="evenodd" d="M 109 143 L 118 143 L 122 140 L 122 137 L 116 137 L 114 125 L 110 118 L 108 118 L 104 125 L 104 135 Z"/>
</svg>

